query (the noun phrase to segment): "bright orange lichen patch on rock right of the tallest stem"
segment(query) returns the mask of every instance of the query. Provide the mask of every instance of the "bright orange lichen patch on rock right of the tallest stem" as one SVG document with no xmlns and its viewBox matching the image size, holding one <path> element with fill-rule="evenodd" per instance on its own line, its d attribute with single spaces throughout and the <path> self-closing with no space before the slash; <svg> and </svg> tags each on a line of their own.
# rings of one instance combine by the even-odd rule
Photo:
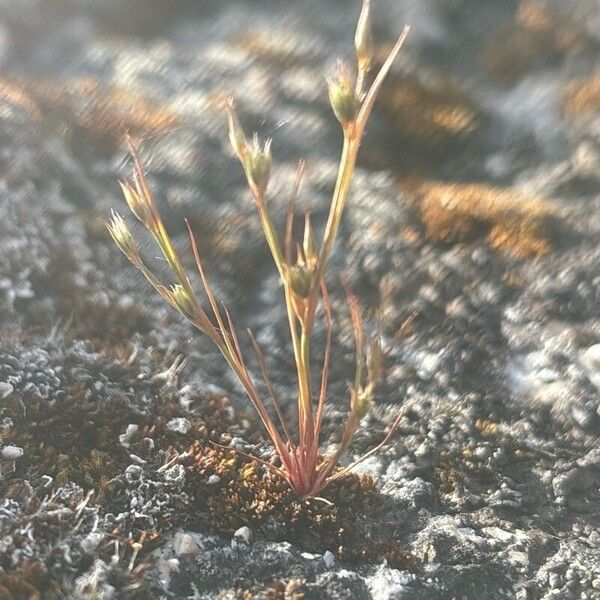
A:
<svg viewBox="0 0 600 600">
<path fill-rule="evenodd" d="M 490 245 L 520 257 L 541 257 L 551 249 L 548 202 L 485 184 L 423 184 L 414 194 L 427 235 L 463 242 L 486 235 Z"/>
</svg>

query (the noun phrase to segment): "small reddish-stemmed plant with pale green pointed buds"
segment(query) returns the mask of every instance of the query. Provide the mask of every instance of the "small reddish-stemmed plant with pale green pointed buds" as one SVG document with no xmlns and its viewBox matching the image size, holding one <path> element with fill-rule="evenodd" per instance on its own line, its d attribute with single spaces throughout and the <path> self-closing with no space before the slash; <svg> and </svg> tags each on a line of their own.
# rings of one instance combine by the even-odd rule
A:
<svg viewBox="0 0 600 600">
<path fill-rule="evenodd" d="M 379 337 L 376 337 L 370 343 L 366 343 L 357 299 L 347 289 L 356 341 L 356 374 L 354 382 L 350 386 L 350 412 L 342 431 L 339 447 L 332 454 L 322 456 L 319 453 L 319 438 L 327 396 L 332 331 L 331 304 L 324 279 L 325 267 L 344 214 L 356 158 L 367 120 L 392 62 L 408 34 L 408 27 L 405 27 L 373 79 L 371 86 L 367 88 L 366 80 L 374 60 L 369 4 L 369 0 L 363 1 L 356 29 L 356 78 L 353 78 L 350 69 L 342 63 L 338 63 L 336 75 L 327 82 L 331 106 L 343 132 L 343 148 L 329 215 L 320 245 L 317 245 L 310 216 L 307 214 L 304 220 L 303 241 L 297 245 L 295 256 L 293 256 L 294 202 L 302 178 L 302 163 L 298 166 L 282 243 L 269 214 L 266 201 L 271 170 L 271 140 L 266 140 L 261 144 L 258 136 L 254 134 L 252 141 L 249 142 L 238 120 L 233 100 L 229 100 L 227 103 L 229 138 L 242 163 L 267 244 L 283 285 L 283 296 L 298 378 L 298 421 L 295 435 L 292 433 L 292 428 L 284 417 L 277 400 L 263 353 L 252 333 L 248 331 L 276 418 L 274 419 L 269 414 L 265 401 L 246 366 L 242 346 L 231 316 L 227 308 L 220 304 L 213 294 L 196 240 L 189 223 L 187 223 L 196 267 L 210 305 L 209 312 L 212 314 L 209 315 L 209 312 L 202 307 L 186 270 L 173 248 L 163 220 L 156 209 L 141 162 L 131 141 L 129 141 L 129 146 L 134 163 L 133 181 L 126 181 L 121 184 L 123 193 L 133 214 L 154 236 L 173 271 L 177 283 L 165 285 L 148 269 L 142 261 L 138 246 L 129 227 L 119 214 L 113 211 L 112 219 L 108 224 L 108 229 L 114 241 L 129 261 L 144 274 L 150 284 L 169 304 L 184 315 L 199 331 L 207 335 L 217 346 L 248 394 L 281 461 L 279 467 L 271 463 L 265 464 L 284 477 L 300 497 L 314 496 L 325 485 L 339 478 L 356 464 L 353 463 L 346 469 L 337 468 L 340 456 L 348 448 L 361 419 L 373 402 L 375 388 L 381 378 L 383 362 L 387 354 L 382 348 Z M 319 306 L 322 306 L 323 309 L 327 333 L 319 392 L 315 398 L 310 373 L 310 339 Z M 402 333 L 406 326 L 408 326 L 408 323 L 405 323 L 399 333 Z M 399 417 L 390 428 L 385 439 L 376 448 L 363 455 L 359 461 L 376 452 L 388 441 L 398 420 Z"/>
</svg>

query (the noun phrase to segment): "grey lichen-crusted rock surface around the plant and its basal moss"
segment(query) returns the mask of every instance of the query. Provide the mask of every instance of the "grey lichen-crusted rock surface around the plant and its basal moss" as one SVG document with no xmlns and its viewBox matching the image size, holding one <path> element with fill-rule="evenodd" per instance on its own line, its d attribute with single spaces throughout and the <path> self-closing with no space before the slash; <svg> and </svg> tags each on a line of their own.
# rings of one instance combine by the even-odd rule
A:
<svg viewBox="0 0 600 600">
<path fill-rule="evenodd" d="M 228 396 L 227 441 L 259 440 L 218 356 L 106 235 L 124 132 L 143 140 L 177 244 L 187 217 L 291 408 L 276 279 L 219 103 L 234 94 L 248 128 L 274 137 L 277 222 L 305 157 L 298 211 L 322 226 L 340 142 L 323 73 L 349 54 L 358 4 L 0 0 L 0 597 L 600 598 L 591 0 L 373 2 L 378 40 L 413 29 L 331 273 L 387 334 L 418 314 L 353 448 L 410 406 L 361 465 L 377 516 L 356 515 L 408 558 L 350 561 L 333 539 L 202 520 L 184 460 L 210 429 L 199 407 Z M 324 448 L 353 362 L 334 279 Z"/>
</svg>

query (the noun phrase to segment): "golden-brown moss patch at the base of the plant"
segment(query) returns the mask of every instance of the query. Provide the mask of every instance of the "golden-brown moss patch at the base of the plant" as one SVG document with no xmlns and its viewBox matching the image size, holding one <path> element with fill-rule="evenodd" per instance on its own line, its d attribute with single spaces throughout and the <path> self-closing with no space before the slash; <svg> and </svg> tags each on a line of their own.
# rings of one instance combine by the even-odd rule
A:
<svg viewBox="0 0 600 600">
<path fill-rule="evenodd" d="M 385 558 L 397 568 L 414 566 L 397 539 L 358 525 L 362 519 L 377 523 L 383 510 L 373 478 L 347 475 L 320 497 L 300 499 L 277 474 L 234 450 L 196 443 L 189 453 L 198 518 L 219 531 L 250 525 L 269 539 L 293 541 L 310 552 L 329 550 L 346 562 Z M 218 481 L 209 483 L 214 476 Z"/>
</svg>

